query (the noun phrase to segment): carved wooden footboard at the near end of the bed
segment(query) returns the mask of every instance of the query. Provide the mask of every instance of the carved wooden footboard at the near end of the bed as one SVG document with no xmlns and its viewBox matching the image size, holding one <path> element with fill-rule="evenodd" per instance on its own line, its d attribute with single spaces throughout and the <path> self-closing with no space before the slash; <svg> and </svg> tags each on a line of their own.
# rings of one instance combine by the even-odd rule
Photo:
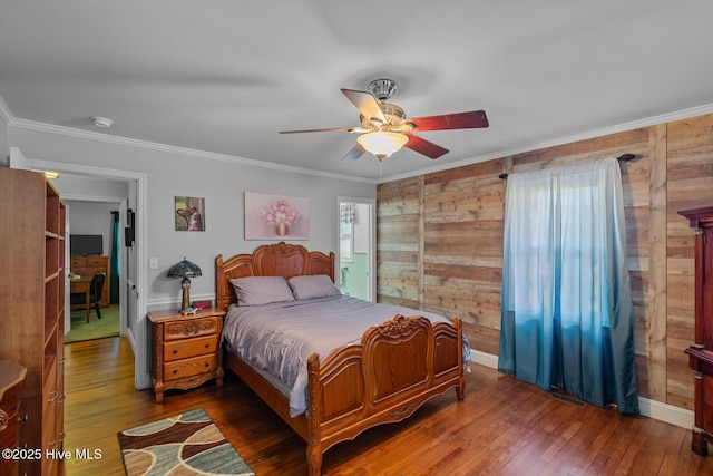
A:
<svg viewBox="0 0 713 476">
<path fill-rule="evenodd" d="M 429 398 L 456 387 L 463 399 L 460 320 L 453 326 L 395 315 L 369 329 L 361 344 L 307 363 L 310 474 L 322 454 L 368 428 L 401 421 Z"/>
</svg>

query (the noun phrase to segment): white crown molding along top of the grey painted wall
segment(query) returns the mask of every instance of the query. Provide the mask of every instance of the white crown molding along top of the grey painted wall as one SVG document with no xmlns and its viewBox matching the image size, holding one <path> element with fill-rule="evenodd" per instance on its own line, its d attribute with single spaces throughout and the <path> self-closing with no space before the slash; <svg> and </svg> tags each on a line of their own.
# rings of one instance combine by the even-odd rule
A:
<svg viewBox="0 0 713 476">
<path fill-rule="evenodd" d="M 2 98 L 0 97 L 0 103 L 1 101 L 2 101 Z M 0 104 L 0 114 L 2 114 L 3 104 L 4 103 Z M 192 157 L 206 158 L 211 161 L 229 162 L 233 164 L 250 165 L 253 167 L 271 168 L 274 171 L 287 172 L 292 174 L 313 175 L 318 177 L 335 178 L 340 181 L 377 184 L 377 181 L 371 178 L 354 177 L 351 175 L 334 174 L 329 172 L 314 171 L 312 168 L 303 168 L 303 167 L 295 167 L 292 165 L 275 164 L 272 162 L 255 161 L 253 158 L 237 157 L 237 156 L 227 155 L 227 154 L 217 154 L 217 153 L 198 150 L 198 149 L 193 149 L 187 147 L 178 147 L 178 146 L 173 146 L 167 144 L 153 143 L 148 140 L 131 139 L 128 137 L 95 133 L 91 130 L 75 129 L 75 128 L 65 127 L 65 126 L 56 126 L 52 124 L 38 123 L 35 120 L 17 119 L 12 117 L 12 114 L 10 113 L 9 109 L 7 109 L 7 111 L 10 116 L 10 120 L 7 122 L 8 126 L 18 127 L 21 129 L 57 134 L 61 136 L 76 137 L 76 138 L 81 138 L 87 140 L 98 140 L 107 144 L 121 145 L 126 147 L 158 150 L 158 152 L 165 152 L 165 153 L 177 154 L 177 155 L 187 155 Z"/>
</svg>

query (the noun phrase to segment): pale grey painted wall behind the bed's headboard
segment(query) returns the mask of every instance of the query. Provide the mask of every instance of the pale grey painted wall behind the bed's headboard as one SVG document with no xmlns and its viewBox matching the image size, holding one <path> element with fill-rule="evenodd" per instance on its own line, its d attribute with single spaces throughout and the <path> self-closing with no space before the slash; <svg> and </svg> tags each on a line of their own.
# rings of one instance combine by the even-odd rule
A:
<svg viewBox="0 0 713 476">
<path fill-rule="evenodd" d="M 137 147 L 129 142 L 117 144 L 12 125 L 8 128 L 8 142 L 32 159 L 147 175 L 146 250 L 147 256 L 157 258 L 159 263 L 157 270 L 148 270 L 147 274 L 149 310 L 170 309 L 179 302 L 178 283 L 165 275 L 168 268 L 184 256 L 203 270 L 203 276 L 192 281 L 191 295 L 204 299 L 215 293 L 213 271 L 217 254 L 247 253 L 263 244 L 244 240 L 244 192 L 307 197 L 311 237 L 299 243 L 325 252 L 335 251 L 338 246 L 336 196 L 375 198 L 372 183 L 264 168 L 229 158 L 216 159 L 198 152 Z M 174 196 L 177 195 L 205 198 L 205 232 L 174 230 Z M 144 265 L 148 268 L 148 263 Z"/>
</svg>

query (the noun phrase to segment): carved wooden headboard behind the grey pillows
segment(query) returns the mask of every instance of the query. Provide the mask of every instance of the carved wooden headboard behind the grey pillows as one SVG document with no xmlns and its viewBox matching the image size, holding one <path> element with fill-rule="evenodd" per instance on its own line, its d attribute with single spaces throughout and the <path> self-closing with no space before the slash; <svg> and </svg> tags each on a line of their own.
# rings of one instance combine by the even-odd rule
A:
<svg viewBox="0 0 713 476">
<path fill-rule="evenodd" d="M 253 254 L 236 254 L 226 260 L 218 254 L 215 258 L 215 305 L 227 310 L 237 302 L 231 285 L 234 278 L 283 276 L 289 280 L 310 274 L 326 274 L 334 282 L 334 253 L 307 251 L 302 245 L 281 241 L 257 246 Z"/>
</svg>

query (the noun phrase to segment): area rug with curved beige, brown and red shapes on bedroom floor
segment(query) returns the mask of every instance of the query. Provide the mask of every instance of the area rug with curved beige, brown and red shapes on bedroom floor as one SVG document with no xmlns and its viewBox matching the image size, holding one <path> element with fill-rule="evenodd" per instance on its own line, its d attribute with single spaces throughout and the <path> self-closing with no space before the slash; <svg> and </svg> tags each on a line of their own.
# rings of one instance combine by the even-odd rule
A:
<svg viewBox="0 0 713 476">
<path fill-rule="evenodd" d="M 117 436 L 127 476 L 255 474 L 203 408 Z"/>
</svg>

